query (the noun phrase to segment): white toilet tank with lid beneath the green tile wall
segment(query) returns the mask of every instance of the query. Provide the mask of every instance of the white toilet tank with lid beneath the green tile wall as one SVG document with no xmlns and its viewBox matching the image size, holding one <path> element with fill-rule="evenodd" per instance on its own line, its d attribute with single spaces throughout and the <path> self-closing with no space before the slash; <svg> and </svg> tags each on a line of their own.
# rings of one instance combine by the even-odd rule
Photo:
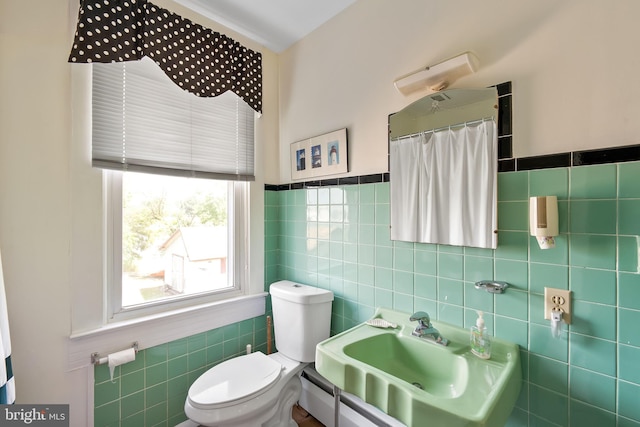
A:
<svg viewBox="0 0 640 427">
<path fill-rule="evenodd" d="M 333 292 L 282 280 L 269 293 L 276 349 L 289 359 L 313 362 L 316 345 L 329 338 Z"/>
</svg>

